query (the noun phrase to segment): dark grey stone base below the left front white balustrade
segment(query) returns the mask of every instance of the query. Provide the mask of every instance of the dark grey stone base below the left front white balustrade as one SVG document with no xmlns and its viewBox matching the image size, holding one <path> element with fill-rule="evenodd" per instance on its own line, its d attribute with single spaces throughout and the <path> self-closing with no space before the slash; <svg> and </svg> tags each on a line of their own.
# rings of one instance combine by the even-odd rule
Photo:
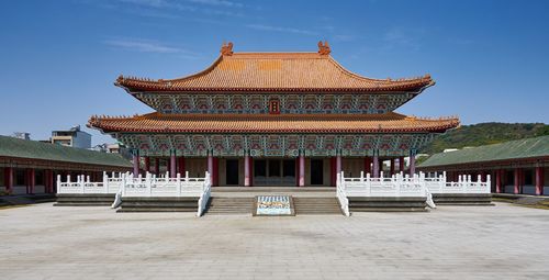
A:
<svg viewBox="0 0 549 280">
<path fill-rule="evenodd" d="M 123 198 L 116 212 L 197 212 L 199 198 Z"/>
</svg>

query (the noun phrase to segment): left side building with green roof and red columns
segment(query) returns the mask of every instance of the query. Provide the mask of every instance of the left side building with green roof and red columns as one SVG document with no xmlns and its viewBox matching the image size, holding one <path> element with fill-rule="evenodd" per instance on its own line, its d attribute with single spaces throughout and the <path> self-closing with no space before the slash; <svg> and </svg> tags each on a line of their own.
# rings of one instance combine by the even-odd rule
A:
<svg viewBox="0 0 549 280">
<path fill-rule="evenodd" d="M 119 154 L 0 136 L 0 192 L 55 193 L 57 175 L 86 175 L 99 181 L 103 171 L 131 169 L 132 164 Z"/>
</svg>

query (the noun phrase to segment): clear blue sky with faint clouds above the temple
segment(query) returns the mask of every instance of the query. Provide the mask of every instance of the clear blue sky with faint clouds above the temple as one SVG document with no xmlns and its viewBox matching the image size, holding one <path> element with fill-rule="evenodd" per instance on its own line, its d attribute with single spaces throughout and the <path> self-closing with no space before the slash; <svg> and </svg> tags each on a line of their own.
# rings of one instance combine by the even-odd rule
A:
<svg viewBox="0 0 549 280">
<path fill-rule="evenodd" d="M 549 122 L 549 1 L 67 0 L 0 3 L 0 134 L 152 109 L 120 74 L 176 78 L 235 52 L 316 52 L 373 78 L 430 74 L 421 116 Z M 93 143 L 114 142 L 88 130 Z"/>
</svg>

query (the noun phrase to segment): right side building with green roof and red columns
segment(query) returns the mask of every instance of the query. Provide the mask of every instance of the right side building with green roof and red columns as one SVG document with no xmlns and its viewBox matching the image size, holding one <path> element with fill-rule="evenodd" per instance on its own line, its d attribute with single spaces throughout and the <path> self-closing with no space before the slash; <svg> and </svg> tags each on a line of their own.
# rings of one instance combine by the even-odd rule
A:
<svg viewBox="0 0 549 280">
<path fill-rule="evenodd" d="M 549 194 L 549 136 L 439 153 L 417 166 L 424 172 L 492 177 L 492 192 Z"/>
</svg>

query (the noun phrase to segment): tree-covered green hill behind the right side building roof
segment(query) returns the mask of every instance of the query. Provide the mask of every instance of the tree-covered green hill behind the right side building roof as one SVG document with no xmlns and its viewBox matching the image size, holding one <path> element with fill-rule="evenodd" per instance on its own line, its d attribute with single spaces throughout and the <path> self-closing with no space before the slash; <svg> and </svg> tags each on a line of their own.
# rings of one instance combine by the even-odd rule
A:
<svg viewBox="0 0 549 280">
<path fill-rule="evenodd" d="M 549 125 L 544 123 L 479 123 L 439 135 L 421 150 L 425 154 L 440 153 L 445 148 L 482 146 L 506 141 L 549 135 Z"/>
</svg>

